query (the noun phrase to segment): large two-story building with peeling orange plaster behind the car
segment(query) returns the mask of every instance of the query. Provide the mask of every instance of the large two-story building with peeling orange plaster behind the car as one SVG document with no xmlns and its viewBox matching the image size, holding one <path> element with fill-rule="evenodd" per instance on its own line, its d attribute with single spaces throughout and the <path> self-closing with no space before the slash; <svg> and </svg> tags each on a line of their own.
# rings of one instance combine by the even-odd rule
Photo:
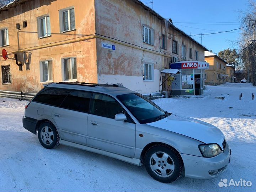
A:
<svg viewBox="0 0 256 192">
<path fill-rule="evenodd" d="M 80 81 L 155 92 L 173 58 L 203 62 L 207 50 L 139 0 L 15 0 L 0 32 L 0 89 L 12 91 Z"/>
</svg>

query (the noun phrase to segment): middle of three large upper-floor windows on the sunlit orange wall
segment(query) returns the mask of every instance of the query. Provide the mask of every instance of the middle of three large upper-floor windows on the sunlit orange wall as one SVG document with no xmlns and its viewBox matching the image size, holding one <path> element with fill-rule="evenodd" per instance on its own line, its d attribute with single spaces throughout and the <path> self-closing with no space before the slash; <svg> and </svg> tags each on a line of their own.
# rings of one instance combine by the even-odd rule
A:
<svg viewBox="0 0 256 192">
<path fill-rule="evenodd" d="M 50 36 L 50 16 L 39 17 L 37 21 L 38 25 L 38 37 Z"/>
</svg>

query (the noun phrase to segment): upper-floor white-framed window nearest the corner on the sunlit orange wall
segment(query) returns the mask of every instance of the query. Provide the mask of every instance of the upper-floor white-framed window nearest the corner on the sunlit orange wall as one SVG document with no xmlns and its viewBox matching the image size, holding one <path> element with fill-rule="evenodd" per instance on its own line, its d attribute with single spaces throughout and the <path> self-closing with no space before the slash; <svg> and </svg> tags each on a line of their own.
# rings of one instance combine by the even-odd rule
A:
<svg viewBox="0 0 256 192">
<path fill-rule="evenodd" d="M 74 8 L 60 10 L 60 31 L 75 30 Z"/>
</svg>

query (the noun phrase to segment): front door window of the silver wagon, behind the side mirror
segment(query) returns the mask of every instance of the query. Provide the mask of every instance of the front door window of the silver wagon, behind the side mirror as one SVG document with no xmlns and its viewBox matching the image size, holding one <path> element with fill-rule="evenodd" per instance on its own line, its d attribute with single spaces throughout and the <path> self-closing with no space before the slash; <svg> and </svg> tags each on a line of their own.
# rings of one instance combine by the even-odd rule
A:
<svg viewBox="0 0 256 192">
<path fill-rule="evenodd" d="M 102 94 L 93 94 L 91 113 L 97 116 L 114 119 L 116 114 L 124 113 L 124 110 L 112 97 Z"/>
</svg>

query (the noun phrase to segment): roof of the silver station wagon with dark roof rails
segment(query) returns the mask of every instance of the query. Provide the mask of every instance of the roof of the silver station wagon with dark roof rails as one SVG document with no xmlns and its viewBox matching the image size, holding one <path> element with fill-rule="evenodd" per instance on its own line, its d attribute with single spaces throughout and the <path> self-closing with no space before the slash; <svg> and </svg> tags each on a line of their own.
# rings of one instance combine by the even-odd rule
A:
<svg viewBox="0 0 256 192">
<path fill-rule="evenodd" d="M 81 91 L 93 91 L 93 92 L 100 92 L 100 93 L 108 94 L 112 96 L 137 93 L 135 91 L 127 89 L 126 87 L 115 85 L 115 84 L 108 85 L 108 84 L 92 84 L 92 83 L 84 83 L 84 82 L 58 82 L 58 83 L 48 84 L 46 85 L 46 87 L 73 89 L 73 90 L 81 90 Z"/>
</svg>

